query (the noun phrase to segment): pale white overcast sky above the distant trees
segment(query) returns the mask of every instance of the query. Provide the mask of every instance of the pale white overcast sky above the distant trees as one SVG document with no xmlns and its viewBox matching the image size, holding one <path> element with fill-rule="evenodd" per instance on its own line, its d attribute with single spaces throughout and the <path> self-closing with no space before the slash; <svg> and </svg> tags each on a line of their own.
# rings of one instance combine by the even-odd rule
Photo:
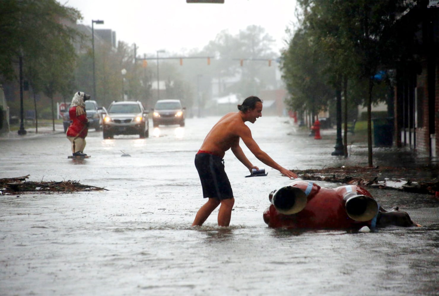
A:
<svg viewBox="0 0 439 296">
<path fill-rule="evenodd" d="M 285 29 L 295 21 L 295 0 L 225 0 L 224 4 L 188 4 L 186 0 L 58 0 L 75 7 L 84 25 L 111 29 L 117 41 L 136 43 L 139 55 L 184 54 L 202 49 L 224 29 L 236 35 L 260 25 L 276 39 L 275 51 L 286 47 Z"/>
</svg>

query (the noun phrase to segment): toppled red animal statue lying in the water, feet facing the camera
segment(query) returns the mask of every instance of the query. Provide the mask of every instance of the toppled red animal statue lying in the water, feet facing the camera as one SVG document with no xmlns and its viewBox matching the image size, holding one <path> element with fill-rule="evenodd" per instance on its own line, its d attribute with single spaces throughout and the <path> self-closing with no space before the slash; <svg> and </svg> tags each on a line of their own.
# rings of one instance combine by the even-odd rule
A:
<svg viewBox="0 0 439 296">
<path fill-rule="evenodd" d="M 385 211 L 364 188 L 345 185 L 320 187 L 316 183 L 295 181 L 270 193 L 271 202 L 263 214 L 272 228 L 346 229 L 368 226 L 418 226 L 398 208 Z"/>
</svg>

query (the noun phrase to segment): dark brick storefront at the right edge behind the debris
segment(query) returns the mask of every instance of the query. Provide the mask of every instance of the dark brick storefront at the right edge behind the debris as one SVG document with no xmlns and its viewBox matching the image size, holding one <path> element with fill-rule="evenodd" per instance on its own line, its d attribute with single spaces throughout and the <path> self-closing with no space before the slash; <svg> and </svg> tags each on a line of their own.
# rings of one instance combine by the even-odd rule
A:
<svg viewBox="0 0 439 296">
<path fill-rule="evenodd" d="M 439 7 L 418 1 L 401 27 L 413 26 L 413 52 L 396 69 L 395 138 L 432 158 L 439 156 Z"/>
</svg>

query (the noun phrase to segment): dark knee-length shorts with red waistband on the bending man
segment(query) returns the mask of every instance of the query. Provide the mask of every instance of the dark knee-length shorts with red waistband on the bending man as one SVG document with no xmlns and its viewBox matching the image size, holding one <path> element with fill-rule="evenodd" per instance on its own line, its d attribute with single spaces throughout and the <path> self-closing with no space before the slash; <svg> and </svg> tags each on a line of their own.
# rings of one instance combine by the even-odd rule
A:
<svg viewBox="0 0 439 296">
<path fill-rule="evenodd" d="M 198 153 L 195 155 L 195 167 L 200 176 L 204 198 L 214 197 L 219 200 L 233 198 L 232 187 L 221 157 L 209 153 Z"/>
</svg>

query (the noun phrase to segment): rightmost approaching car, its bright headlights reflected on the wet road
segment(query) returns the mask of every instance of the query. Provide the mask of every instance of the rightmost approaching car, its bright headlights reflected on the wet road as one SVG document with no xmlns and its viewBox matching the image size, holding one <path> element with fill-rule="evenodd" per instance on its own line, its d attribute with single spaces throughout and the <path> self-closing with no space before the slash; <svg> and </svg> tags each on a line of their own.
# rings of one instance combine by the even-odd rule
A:
<svg viewBox="0 0 439 296">
<path fill-rule="evenodd" d="M 158 100 L 154 106 L 152 125 L 158 127 L 159 124 L 180 124 L 184 127 L 184 110 L 180 100 Z"/>
</svg>

